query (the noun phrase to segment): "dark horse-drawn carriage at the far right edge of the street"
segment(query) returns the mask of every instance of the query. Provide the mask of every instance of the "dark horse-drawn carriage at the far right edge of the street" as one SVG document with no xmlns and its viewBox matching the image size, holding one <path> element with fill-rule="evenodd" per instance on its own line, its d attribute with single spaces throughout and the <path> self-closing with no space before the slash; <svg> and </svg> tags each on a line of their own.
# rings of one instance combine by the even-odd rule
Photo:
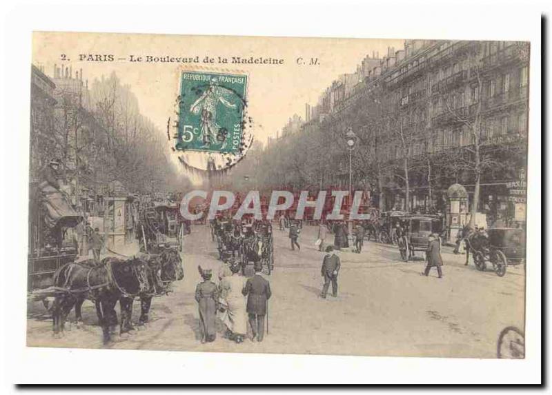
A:
<svg viewBox="0 0 552 395">
<path fill-rule="evenodd" d="M 508 265 L 525 262 L 525 231 L 513 228 L 490 229 L 487 234 L 472 232 L 466 237 L 466 261 L 470 252 L 478 270 L 486 270 L 491 263 L 497 276 L 506 274 Z"/>
</svg>

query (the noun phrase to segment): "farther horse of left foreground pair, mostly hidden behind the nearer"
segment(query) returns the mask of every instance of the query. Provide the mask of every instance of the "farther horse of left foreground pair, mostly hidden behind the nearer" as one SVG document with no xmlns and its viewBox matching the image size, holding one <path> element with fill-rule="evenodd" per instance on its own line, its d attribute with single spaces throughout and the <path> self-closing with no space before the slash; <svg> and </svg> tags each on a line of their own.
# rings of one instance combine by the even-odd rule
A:
<svg viewBox="0 0 552 395">
<path fill-rule="evenodd" d="M 149 312 L 153 296 L 162 295 L 168 292 L 168 287 L 173 281 L 180 281 L 184 278 L 184 267 L 182 259 L 177 249 L 166 248 L 161 254 L 150 255 L 146 260 L 148 262 L 148 279 L 150 289 L 141 292 L 140 297 L 140 318 L 139 325 L 144 325 L 149 321 Z M 128 316 L 132 316 L 132 302 L 134 298 L 121 298 L 121 312 L 126 310 Z M 132 324 L 124 330 L 132 330 Z"/>
</svg>

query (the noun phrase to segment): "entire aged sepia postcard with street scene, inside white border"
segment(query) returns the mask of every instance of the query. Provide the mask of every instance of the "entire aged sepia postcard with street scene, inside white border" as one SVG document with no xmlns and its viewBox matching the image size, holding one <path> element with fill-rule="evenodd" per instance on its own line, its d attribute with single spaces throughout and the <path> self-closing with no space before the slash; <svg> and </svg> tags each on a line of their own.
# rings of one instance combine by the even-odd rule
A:
<svg viewBox="0 0 552 395">
<path fill-rule="evenodd" d="M 529 49 L 35 32 L 28 346 L 524 358 Z"/>
</svg>

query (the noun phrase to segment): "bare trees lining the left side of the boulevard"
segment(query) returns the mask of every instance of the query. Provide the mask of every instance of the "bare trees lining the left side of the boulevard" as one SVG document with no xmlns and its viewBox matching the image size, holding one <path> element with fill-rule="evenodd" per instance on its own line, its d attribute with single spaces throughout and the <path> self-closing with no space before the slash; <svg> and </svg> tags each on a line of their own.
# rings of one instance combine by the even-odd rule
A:
<svg viewBox="0 0 552 395">
<path fill-rule="evenodd" d="M 113 72 L 87 86 L 59 83 L 53 111 L 34 100 L 31 114 L 31 174 L 52 158 L 68 181 L 97 190 L 119 181 L 128 192 L 176 190 L 187 180 L 170 160 L 166 133 L 139 109 L 130 86 Z"/>
</svg>

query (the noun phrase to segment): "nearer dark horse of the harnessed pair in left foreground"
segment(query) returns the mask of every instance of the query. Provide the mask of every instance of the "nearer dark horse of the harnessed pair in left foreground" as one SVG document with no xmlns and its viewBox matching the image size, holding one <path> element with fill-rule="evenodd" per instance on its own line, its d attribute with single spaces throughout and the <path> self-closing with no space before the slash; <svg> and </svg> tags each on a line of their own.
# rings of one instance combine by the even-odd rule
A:
<svg viewBox="0 0 552 395">
<path fill-rule="evenodd" d="M 103 343 L 110 341 L 110 325 L 117 314 L 115 304 L 126 296 L 139 294 L 149 289 L 148 263 L 144 259 L 126 261 L 108 257 L 99 265 L 90 262 L 66 263 L 54 274 L 54 286 L 59 288 L 52 307 L 54 334 L 61 334 L 72 307 L 85 298 L 95 302 L 96 312 L 103 332 Z M 80 311 L 78 312 L 80 314 Z M 121 333 L 128 325 L 130 316 L 121 308 Z"/>
</svg>

